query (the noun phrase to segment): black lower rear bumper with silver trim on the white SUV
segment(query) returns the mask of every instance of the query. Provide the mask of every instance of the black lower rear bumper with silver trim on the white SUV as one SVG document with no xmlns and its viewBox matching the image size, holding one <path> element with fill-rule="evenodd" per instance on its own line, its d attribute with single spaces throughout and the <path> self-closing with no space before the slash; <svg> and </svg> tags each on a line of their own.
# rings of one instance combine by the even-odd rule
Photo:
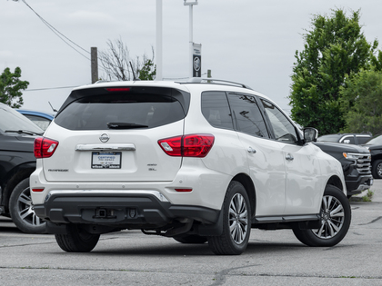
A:
<svg viewBox="0 0 382 286">
<path fill-rule="evenodd" d="M 174 220 L 216 223 L 219 211 L 192 205 L 174 205 L 156 191 L 54 191 L 35 214 L 47 222 L 107 225 L 121 229 L 156 229 Z"/>
</svg>

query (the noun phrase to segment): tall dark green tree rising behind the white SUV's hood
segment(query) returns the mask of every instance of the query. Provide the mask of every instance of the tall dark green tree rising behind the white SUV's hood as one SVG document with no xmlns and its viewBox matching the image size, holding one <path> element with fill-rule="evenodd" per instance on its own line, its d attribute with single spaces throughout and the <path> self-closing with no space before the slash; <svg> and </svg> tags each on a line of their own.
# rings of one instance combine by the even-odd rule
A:
<svg viewBox="0 0 382 286">
<path fill-rule="evenodd" d="M 339 89 L 346 74 L 369 67 L 378 45 L 377 40 L 367 43 L 358 22 L 359 10 L 350 17 L 341 9 L 313 17 L 291 76 L 291 117 L 300 125 L 316 127 L 321 134 L 337 133 L 345 126 Z"/>
</svg>

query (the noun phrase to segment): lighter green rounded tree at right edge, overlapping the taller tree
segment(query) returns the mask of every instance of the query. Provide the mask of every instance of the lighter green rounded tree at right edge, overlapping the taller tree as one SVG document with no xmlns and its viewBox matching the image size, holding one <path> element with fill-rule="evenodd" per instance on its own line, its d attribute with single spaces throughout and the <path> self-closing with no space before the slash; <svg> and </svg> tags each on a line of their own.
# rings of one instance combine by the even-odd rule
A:
<svg viewBox="0 0 382 286">
<path fill-rule="evenodd" d="M 351 74 L 341 87 L 341 111 L 347 133 L 382 133 L 382 72 Z"/>
</svg>

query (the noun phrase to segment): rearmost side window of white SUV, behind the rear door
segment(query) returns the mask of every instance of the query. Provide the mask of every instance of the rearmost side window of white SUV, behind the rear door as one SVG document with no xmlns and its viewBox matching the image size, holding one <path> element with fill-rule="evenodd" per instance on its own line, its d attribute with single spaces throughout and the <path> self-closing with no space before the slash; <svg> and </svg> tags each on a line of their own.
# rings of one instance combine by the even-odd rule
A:
<svg viewBox="0 0 382 286">
<path fill-rule="evenodd" d="M 212 126 L 234 129 L 225 92 L 202 93 L 202 113 Z"/>
</svg>

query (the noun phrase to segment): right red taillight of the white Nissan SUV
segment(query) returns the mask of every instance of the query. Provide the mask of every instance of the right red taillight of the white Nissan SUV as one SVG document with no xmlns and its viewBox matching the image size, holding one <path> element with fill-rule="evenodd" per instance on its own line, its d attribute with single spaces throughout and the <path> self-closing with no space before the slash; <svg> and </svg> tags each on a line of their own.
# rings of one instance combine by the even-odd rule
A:
<svg viewBox="0 0 382 286">
<path fill-rule="evenodd" d="M 159 146 L 170 156 L 204 158 L 214 145 L 212 134 L 189 134 L 158 141 Z"/>
</svg>

